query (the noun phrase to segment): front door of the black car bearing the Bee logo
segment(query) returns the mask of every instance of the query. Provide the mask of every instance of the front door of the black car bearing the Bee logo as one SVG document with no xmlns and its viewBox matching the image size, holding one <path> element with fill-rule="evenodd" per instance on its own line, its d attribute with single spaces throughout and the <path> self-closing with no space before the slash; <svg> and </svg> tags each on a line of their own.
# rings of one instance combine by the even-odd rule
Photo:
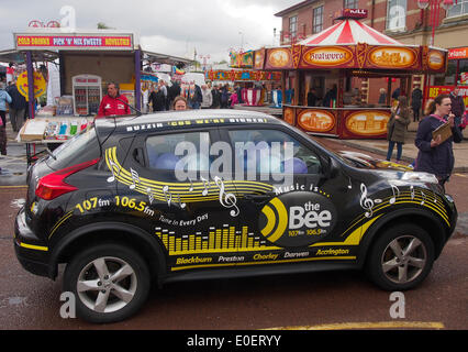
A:
<svg viewBox="0 0 468 352">
<path fill-rule="evenodd" d="M 225 128 L 221 135 L 246 162 L 237 162 L 244 168 L 235 180 L 244 265 L 353 258 L 343 237 L 353 196 L 323 150 L 282 125 Z M 344 251 L 328 251 L 335 248 Z"/>
</svg>

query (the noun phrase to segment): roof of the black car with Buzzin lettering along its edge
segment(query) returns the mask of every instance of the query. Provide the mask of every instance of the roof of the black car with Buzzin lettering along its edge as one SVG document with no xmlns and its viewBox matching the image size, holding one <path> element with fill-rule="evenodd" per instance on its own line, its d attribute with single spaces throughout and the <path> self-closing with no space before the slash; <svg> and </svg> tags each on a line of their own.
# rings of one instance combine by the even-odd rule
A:
<svg viewBox="0 0 468 352">
<path fill-rule="evenodd" d="M 99 129 L 111 127 L 110 119 L 97 119 L 96 125 Z M 113 119 L 112 119 L 113 120 Z M 224 124 L 285 124 L 285 122 L 272 116 L 247 110 L 224 110 L 224 109 L 198 109 L 183 111 L 167 111 L 148 113 L 140 117 L 116 117 L 115 132 L 140 132 L 140 131 L 163 131 L 183 128 L 212 127 Z"/>
</svg>

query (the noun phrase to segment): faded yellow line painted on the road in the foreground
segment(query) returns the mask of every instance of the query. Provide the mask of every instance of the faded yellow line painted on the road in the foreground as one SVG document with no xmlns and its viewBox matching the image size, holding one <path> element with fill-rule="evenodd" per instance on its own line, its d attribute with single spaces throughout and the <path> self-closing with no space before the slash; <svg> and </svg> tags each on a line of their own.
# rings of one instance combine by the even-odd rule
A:
<svg viewBox="0 0 468 352">
<path fill-rule="evenodd" d="M 437 321 L 339 322 L 321 326 L 281 327 L 264 330 L 350 330 L 350 329 L 445 329 Z"/>
</svg>

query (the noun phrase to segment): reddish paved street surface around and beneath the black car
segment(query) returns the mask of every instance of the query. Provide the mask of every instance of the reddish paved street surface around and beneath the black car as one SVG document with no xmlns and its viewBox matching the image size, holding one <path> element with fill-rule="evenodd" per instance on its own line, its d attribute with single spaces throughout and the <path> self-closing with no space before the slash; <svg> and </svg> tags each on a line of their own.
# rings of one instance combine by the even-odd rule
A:
<svg viewBox="0 0 468 352">
<path fill-rule="evenodd" d="M 334 151 L 363 151 L 356 146 L 377 143 L 316 140 Z M 405 151 L 409 150 L 405 146 Z M 369 148 L 366 153 L 380 155 L 378 150 Z M 404 293 L 404 318 L 391 318 L 390 293 L 376 288 L 361 273 L 332 272 L 168 284 L 153 289 L 136 317 L 120 323 L 93 326 L 60 318 L 62 276 L 53 282 L 32 275 L 16 261 L 12 234 L 14 217 L 26 191 L 23 146 L 11 142 L 9 155 L 0 158 L 0 166 L 7 170 L 0 176 L 2 329 L 463 330 L 468 326 L 468 174 L 455 173 L 447 186 L 459 211 L 456 233 L 423 285 Z"/>
</svg>

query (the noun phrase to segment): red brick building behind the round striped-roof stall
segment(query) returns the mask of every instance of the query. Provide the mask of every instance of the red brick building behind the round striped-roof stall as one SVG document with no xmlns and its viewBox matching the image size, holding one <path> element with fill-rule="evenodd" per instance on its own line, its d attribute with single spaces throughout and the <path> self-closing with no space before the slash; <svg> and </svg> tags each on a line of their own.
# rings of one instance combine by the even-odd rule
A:
<svg viewBox="0 0 468 352">
<path fill-rule="evenodd" d="M 305 0 L 275 15 L 282 18 L 280 43 L 291 44 L 336 23 L 336 14 L 344 8 L 366 9 L 368 16 L 361 20 L 363 23 L 403 44 L 433 45 L 449 50 L 452 59 L 447 74 L 433 76 L 430 81 L 430 86 L 449 89 L 457 80 L 458 84 L 468 86 L 468 0 L 454 2 L 457 4 L 448 11 L 441 7 L 437 12 L 420 9 L 416 0 Z M 432 23 L 436 23 L 434 43 L 431 43 Z M 463 75 L 464 73 L 466 74 Z M 369 103 L 377 102 L 379 88 L 387 88 L 385 79 L 371 79 L 365 87 L 360 87 L 360 82 L 355 79 L 353 85 L 364 88 L 364 99 Z M 413 86 L 423 88 L 423 82 L 422 76 L 413 77 Z M 398 85 L 397 79 L 393 87 Z M 441 90 L 427 89 L 427 92 L 431 91 Z M 468 92 L 465 100 L 468 102 Z"/>
</svg>

